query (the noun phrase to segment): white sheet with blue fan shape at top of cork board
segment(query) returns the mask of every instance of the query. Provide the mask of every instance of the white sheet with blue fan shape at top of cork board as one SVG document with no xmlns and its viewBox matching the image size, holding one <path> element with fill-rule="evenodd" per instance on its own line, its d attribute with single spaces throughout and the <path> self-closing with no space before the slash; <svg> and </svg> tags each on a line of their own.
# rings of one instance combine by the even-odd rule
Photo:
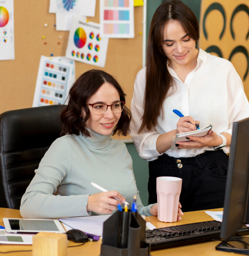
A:
<svg viewBox="0 0 249 256">
<path fill-rule="evenodd" d="M 50 13 L 95 16 L 96 0 L 50 0 Z"/>
</svg>

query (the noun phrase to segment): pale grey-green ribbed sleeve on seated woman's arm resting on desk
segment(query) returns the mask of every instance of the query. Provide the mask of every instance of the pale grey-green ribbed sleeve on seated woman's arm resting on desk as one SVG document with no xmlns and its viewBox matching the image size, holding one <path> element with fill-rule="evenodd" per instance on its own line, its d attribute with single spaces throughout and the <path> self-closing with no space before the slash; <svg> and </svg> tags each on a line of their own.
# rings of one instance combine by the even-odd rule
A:
<svg viewBox="0 0 249 256">
<path fill-rule="evenodd" d="M 89 195 L 53 195 L 70 176 L 73 154 L 66 137 L 55 140 L 35 170 L 35 176 L 21 199 L 24 218 L 48 219 L 89 216 Z"/>
</svg>

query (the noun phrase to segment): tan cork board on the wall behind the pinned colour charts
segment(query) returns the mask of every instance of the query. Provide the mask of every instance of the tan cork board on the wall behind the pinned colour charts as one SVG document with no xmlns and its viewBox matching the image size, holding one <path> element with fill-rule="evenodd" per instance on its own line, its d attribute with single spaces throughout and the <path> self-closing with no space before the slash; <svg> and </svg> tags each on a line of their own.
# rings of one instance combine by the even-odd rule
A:
<svg viewBox="0 0 249 256">
<path fill-rule="evenodd" d="M 95 17 L 87 19 L 99 23 L 99 0 Z M 15 0 L 14 24 L 15 60 L 0 61 L 0 113 L 32 107 L 40 56 L 64 56 L 67 48 L 69 31 L 56 31 L 55 14 L 49 13 L 49 0 Z M 143 32 L 143 6 L 134 7 L 134 25 L 133 39 L 109 39 L 106 65 L 101 68 L 118 79 L 127 94 L 128 107 L 137 72 L 143 63 L 143 35 L 140 34 Z M 76 77 L 86 70 L 99 68 L 78 61 L 75 66 Z M 115 138 L 130 139 L 129 136 Z"/>
</svg>

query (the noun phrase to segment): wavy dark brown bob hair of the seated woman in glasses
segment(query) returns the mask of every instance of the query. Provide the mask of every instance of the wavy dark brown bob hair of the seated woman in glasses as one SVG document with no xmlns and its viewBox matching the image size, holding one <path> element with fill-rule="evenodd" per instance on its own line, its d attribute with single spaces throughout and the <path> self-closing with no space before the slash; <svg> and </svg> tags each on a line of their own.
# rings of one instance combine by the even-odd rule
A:
<svg viewBox="0 0 249 256">
<path fill-rule="evenodd" d="M 65 134 L 82 133 L 85 137 L 91 137 L 86 129 L 86 122 L 90 117 L 90 111 L 87 103 L 88 99 L 94 95 L 105 82 L 112 84 L 120 95 L 120 101 L 125 101 L 126 94 L 122 90 L 116 79 L 103 70 L 88 70 L 83 73 L 74 82 L 69 91 L 69 101 L 67 107 L 61 112 L 62 131 L 61 136 Z M 85 117 L 81 117 L 82 110 L 85 111 Z M 131 122 L 131 111 L 125 106 L 121 113 L 118 124 L 114 128 L 113 134 L 122 134 L 126 136 Z"/>
</svg>

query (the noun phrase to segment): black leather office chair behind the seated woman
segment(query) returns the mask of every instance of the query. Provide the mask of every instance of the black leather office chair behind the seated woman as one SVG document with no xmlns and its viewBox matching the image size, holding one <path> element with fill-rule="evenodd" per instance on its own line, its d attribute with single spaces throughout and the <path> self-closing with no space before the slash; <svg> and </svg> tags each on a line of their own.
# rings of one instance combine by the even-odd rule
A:
<svg viewBox="0 0 249 256">
<path fill-rule="evenodd" d="M 34 170 L 61 133 L 61 105 L 0 114 L 0 207 L 19 209 Z"/>
</svg>

